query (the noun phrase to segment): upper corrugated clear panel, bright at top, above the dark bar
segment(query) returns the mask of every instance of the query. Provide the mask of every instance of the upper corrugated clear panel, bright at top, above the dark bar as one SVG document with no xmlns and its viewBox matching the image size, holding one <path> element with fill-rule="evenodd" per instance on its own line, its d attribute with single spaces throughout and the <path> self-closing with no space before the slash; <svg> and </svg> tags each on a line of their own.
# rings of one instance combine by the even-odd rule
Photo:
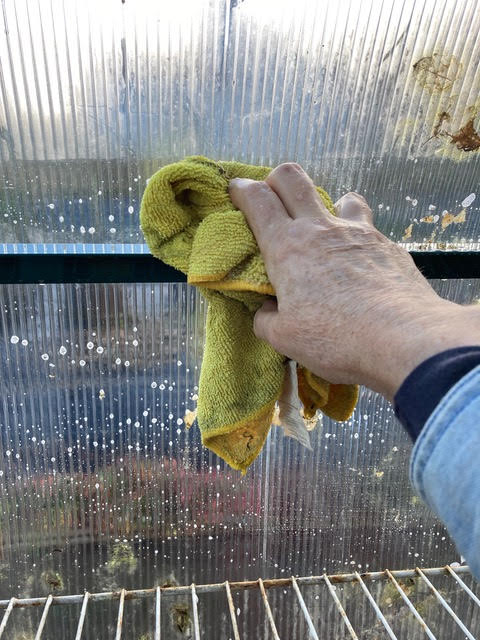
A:
<svg viewBox="0 0 480 640">
<path fill-rule="evenodd" d="M 476 246 L 477 0 L 2 0 L 3 242 L 141 243 L 188 154 L 295 160 L 394 240 Z M 10 250 L 10 249 L 8 249 Z"/>
</svg>

